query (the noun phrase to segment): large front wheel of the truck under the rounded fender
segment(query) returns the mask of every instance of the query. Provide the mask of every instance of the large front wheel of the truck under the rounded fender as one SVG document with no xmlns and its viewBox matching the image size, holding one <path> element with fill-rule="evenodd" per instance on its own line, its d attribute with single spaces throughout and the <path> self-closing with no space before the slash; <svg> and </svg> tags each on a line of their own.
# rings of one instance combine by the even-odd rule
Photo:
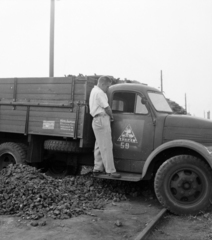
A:
<svg viewBox="0 0 212 240">
<path fill-rule="evenodd" d="M 154 188 L 159 202 L 177 215 L 198 214 L 210 205 L 212 171 L 201 159 L 179 155 L 158 169 Z"/>
</svg>

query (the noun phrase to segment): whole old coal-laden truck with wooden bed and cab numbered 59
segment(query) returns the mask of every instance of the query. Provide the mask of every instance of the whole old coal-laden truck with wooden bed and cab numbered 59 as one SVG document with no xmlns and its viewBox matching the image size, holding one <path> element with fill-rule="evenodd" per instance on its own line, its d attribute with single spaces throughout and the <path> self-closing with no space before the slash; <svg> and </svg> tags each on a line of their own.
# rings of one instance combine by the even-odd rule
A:
<svg viewBox="0 0 212 240">
<path fill-rule="evenodd" d="M 62 177 L 79 165 L 92 166 L 88 100 L 96 83 L 96 76 L 0 79 L 0 169 L 27 162 Z M 206 209 L 212 122 L 173 114 L 163 94 L 145 84 L 115 84 L 108 99 L 120 180 L 153 179 L 159 202 L 175 214 Z"/>
</svg>

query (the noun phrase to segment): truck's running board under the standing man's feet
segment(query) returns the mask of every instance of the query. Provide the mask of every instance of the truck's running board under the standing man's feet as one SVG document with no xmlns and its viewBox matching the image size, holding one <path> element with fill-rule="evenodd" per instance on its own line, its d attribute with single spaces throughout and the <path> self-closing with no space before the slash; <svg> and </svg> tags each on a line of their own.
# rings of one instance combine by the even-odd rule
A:
<svg viewBox="0 0 212 240">
<path fill-rule="evenodd" d="M 135 173 L 125 173 L 125 172 L 119 172 L 121 174 L 120 178 L 114 178 L 110 175 L 101 173 L 98 175 L 94 175 L 95 178 L 102 178 L 102 179 L 112 179 L 112 180 L 120 180 L 120 181 L 128 181 L 128 182 L 139 182 L 141 181 L 141 174 L 135 174 Z"/>
</svg>

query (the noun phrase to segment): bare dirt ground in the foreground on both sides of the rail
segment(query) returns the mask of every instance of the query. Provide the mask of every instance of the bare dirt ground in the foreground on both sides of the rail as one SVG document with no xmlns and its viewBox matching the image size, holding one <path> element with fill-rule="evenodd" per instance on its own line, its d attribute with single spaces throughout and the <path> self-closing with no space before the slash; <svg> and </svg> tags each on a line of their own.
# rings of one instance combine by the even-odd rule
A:
<svg viewBox="0 0 212 240">
<path fill-rule="evenodd" d="M 134 197 L 66 220 L 1 215 L 0 240 L 134 240 L 161 208 L 156 198 Z M 148 239 L 212 239 L 212 207 L 199 216 L 167 214 Z"/>
</svg>

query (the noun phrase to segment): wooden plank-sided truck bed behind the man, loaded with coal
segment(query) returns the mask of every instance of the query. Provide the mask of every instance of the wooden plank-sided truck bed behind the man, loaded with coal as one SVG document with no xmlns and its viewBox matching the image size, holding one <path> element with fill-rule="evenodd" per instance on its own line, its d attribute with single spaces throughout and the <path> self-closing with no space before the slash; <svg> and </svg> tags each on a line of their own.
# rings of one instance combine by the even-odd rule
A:
<svg viewBox="0 0 212 240">
<path fill-rule="evenodd" d="M 0 79 L 0 131 L 92 138 L 88 111 L 94 77 Z"/>
</svg>

